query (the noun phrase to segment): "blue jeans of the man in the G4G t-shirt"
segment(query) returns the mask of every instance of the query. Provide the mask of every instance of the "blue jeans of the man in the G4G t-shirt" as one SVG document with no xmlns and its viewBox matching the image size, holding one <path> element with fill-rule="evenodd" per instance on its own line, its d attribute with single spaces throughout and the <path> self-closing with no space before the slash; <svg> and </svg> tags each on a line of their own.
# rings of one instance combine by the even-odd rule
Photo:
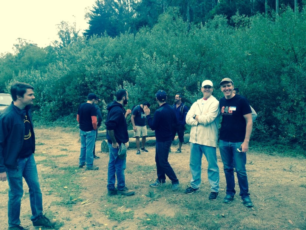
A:
<svg viewBox="0 0 306 230">
<path fill-rule="evenodd" d="M 238 152 L 242 142 L 228 142 L 220 140 L 219 149 L 222 162 L 224 165 L 224 174 L 226 179 L 226 194 L 234 196 L 235 191 L 235 178 L 233 163 L 237 172 L 238 184 L 240 188 L 239 195 L 241 199 L 249 197 L 248 193 L 248 176 L 245 169 L 247 156 L 245 152 Z"/>
</svg>

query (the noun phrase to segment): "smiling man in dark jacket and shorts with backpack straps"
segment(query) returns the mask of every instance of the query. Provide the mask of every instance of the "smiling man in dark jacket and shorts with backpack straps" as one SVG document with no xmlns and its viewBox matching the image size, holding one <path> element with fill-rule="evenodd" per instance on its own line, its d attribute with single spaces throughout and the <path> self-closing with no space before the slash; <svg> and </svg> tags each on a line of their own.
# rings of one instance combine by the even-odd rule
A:
<svg viewBox="0 0 306 230">
<path fill-rule="evenodd" d="M 182 144 L 184 143 L 184 131 L 186 124 L 186 115 L 188 112 L 188 107 L 182 102 L 182 94 L 177 93 L 174 98 L 175 104 L 173 109 L 175 111 L 175 116 L 177 123 L 172 127 L 172 141 L 174 140 L 175 134 L 177 133 L 179 144 L 177 153 L 182 152 Z M 169 149 L 171 151 L 171 149 Z"/>
</svg>

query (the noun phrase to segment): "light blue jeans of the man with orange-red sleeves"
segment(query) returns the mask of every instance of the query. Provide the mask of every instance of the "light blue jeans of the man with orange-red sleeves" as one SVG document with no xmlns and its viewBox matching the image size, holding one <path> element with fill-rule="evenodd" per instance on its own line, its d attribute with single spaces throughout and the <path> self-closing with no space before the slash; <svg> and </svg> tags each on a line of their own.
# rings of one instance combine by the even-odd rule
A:
<svg viewBox="0 0 306 230">
<path fill-rule="evenodd" d="M 88 132 L 80 130 L 81 137 L 81 153 L 80 153 L 80 165 L 84 165 L 86 161 L 86 167 L 92 167 L 94 163 L 94 156 L 92 152 L 95 146 L 96 131 L 91 130 Z"/>
</svg>

